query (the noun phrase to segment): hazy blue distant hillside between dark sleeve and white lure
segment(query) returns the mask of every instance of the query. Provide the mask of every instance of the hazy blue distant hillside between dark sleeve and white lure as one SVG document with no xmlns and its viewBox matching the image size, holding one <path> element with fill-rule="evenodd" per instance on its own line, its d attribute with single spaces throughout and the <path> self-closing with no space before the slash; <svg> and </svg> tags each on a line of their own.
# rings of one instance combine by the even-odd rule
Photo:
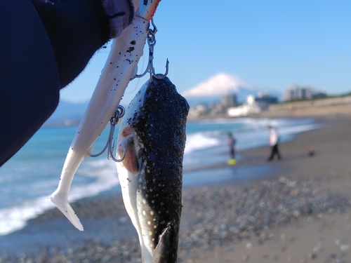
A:
<svg viewBox="0 0 351 263">
<path fill-rule="evenodd" d="M 44 123 L 45 126 L 77 125 L 88 107 L 89 102 L 72 103 L 60 100 L 57 109 Z"/>
</svg>

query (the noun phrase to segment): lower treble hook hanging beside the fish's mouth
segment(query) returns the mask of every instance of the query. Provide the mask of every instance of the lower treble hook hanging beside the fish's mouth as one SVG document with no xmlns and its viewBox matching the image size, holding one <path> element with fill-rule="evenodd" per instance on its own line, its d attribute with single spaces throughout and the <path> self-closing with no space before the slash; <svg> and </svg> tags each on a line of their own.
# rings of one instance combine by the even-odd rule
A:
<svg viewBox="0 0 351 263">
<path fill-rule="evenodd" d="M 121 157 L 121 159 L 116 159 L 113 156 L 114 143 L 112 144 L 112 140 L 113 140 L 113 135 L 114 135 L 114 128 L 116 128 L 116 124 L 118 123 L 119 118 L 123 117 L 125 112 L 126 111 L 125 111 L 123 106 L 119 105 L 119 107 L 117 107 L 116 112 L 114 112 L 114 114 L 112 115 L 112 117 L 110 119 L 110 133 L 109 133 L 109 137 L 107 139 L 107 142 L 106 142 L 106 145 L 105 145 L 104 149 L 102 149 L 102 151 L 100 151 L 100 153 L 98 153 L 98 154 L 90 154 L 91 157 L 98 157 L 98 156 L 100 156 L 108 148 L 108 150 L 107 150 L 107 159 L 110 160 L 110 158 L 111 158 L 113 161 L 115 161 L 117 163 L 119 163 L 119 162 L 124 160 L 124 157 L 126 156 L 126 147 L 124 147 L 123 156 Z"/>
</svg>

